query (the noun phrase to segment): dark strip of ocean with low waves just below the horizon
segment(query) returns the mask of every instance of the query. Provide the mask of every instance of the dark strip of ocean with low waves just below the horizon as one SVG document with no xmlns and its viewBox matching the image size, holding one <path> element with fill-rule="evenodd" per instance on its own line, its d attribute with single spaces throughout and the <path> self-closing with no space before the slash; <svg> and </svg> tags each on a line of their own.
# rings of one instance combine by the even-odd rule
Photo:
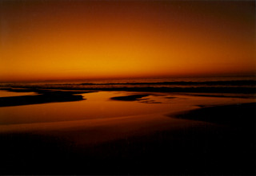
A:
<svg viewBox="0 0 256 176">
<path fill-rule="evenodd" d="M 189 78 L 154 78 L 154 79 L 105 79 L 105 80 L 52 80 L 40 82 L 1 83 L 0 86 L 13 88 L 59 88 L 59 89 L 95 89 L 125 91 L 161 92 L 230 92 L 253 93 L 256 88 L 255 76 L 231 77 L 189 77 Z M 172 89 L 173 88 L 173 89 Z M 194 90 L 192 90 L 193 88 Z M 200 89 L 197 89 L 200 88 Z M 205 90 L 203 89 L 205 88 Z M 225 89 L 225 90 L 224 90 Z"/>
</svg>

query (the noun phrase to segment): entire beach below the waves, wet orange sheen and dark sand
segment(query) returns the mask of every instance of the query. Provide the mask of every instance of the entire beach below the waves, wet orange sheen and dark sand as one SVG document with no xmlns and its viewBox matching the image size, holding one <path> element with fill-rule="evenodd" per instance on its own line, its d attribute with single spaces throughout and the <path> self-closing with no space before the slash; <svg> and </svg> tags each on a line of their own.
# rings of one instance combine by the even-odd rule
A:
<svg viewBox="0 0 256 176">
<path fill-rule="evenodd" d="M 254 97 L 33 91 L 1 98 L 1 174 L 255 174 Z"/>
</svg>

